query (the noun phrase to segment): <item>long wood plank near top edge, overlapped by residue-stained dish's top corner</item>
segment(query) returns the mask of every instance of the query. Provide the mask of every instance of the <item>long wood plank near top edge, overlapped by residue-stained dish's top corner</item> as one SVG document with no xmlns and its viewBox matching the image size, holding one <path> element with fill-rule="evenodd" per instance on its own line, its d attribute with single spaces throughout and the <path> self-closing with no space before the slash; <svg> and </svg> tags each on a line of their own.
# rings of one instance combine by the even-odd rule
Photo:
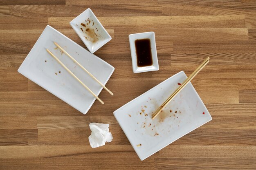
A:
<svg viewBox="0 0 256 170">
<path fill-rule="evenodd" d="M 81 1 L 80 1 L 81 2 Z M 90 8 L 99 16 L 145 16 L 162 15 L 159 4 L 85 4 L 85 5 L 22 5 L 11 6 L 10 13 L 17 17 L 76 17 Z M 124 10 L 125 9 L 125 10 Z M 63 12 L 65 11 L 65 12 Z M 115 11 L 115 12 L 113 12 Z"/>
</svg>

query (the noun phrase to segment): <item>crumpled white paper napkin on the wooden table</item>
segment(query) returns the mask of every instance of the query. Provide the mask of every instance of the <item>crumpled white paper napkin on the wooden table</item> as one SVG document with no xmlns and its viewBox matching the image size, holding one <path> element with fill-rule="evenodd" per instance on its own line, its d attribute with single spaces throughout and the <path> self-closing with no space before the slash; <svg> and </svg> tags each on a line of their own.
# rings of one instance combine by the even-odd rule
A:
<svg viewBox="0 0 256 170">
<path fill-rule="evenodd" d="M 109 124 L 90 123 L 89 127 L 92 130 L 92 134 L 89 136 L 92 148 L 103 146 L 106 142 L 112 141 L 113 137 L 109 132 Z"/>
</svg>

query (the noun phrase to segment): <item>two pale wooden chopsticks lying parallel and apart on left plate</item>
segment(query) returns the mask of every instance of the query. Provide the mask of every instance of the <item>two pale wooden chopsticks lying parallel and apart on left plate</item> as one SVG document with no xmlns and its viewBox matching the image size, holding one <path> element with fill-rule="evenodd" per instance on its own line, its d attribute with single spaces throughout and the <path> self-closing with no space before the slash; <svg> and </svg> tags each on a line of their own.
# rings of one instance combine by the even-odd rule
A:
<svg viewBox="0 0 256 170">
<path fill-rule="evenodd" d="M 65 53 L 68 57 L 70 57 L 71 60 L 73 60 L 73 62 L 75 62 L 78 66 L 80 66 L 86 73 L 88 73 L 90 75 L 90 77 L 92 77 L 97 83 L 99 83 L 106 91 L 108 91 L 108 93 L 110 93 L 110 95 L 113 95 L 113 93 L 108 90 L 108 88 L 106 88 L 96 77 L 94 77 L 88 70 L 86 70 L 79 62 L 77 62 L 69 53 L 67 53 L 61 46 L 59 46 L 56 42 L 54 42 L 54 44 L 58 47 L 58 49 L 60 49 L 61 51 L 63 51 L 63 53 Z M 46 51 L 52 55 L 52 57 L 59 63 L 61 64 L 61 66 L 63 66 L 65 68 L 65 70 L 70 73 L 80 84 L 82 84 L 86 90 L 88 90 L 99 102 L 101 102 L 101 104 L 104 104 L 104 102 L 102 102 L 102 100 L 95 95 L 90 88 L 88 88 L 78 77 L 76 77 L 60 60 L 58 60 L 58 58 L 48 49 L 46 49 Z"/>
</svg>

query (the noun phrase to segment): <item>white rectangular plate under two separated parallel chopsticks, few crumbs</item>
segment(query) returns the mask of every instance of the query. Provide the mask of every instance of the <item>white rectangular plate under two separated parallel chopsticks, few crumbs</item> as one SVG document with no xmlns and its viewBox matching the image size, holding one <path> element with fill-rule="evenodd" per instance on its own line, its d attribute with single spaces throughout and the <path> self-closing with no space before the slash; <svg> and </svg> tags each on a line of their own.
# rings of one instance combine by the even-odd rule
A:
<svg viewBox="0 0 256 170">
<path fill-rule="evenodd" d="M 99 95 L 102 87 L 67 57 L 65 53 L 61 53 L 54 45 L 54 42 L 63 47 L 67 53 L 104 85 L 108 82 L 115 68 L 49 25 L 46 26 L 24 62 L 22 62 L 18 69 L 19 73 L 70 104 L 81 113 L 86 114 L 96 98 L 49 55 L 46 49 L 52 51 L 96 95 Z"/>
</svg>

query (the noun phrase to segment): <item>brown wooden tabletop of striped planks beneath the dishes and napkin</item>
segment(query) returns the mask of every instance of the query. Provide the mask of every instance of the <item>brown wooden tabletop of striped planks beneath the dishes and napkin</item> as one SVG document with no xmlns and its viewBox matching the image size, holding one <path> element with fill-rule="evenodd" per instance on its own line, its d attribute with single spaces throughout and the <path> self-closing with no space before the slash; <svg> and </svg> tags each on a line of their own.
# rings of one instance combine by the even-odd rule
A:
<svg viewBox="0 0 256 170">
<path fill-rule="evenodd" d="M 102 91 L 83 115 L 17 70 L 47 24 L 85 47 L 69 22 L 87 8 L 112 36 L 95 54 L 115 72 L 114 96 Z M 146 31 L 159 71 L 134 74 L 128 35 Z M 207 56 L 192 84 L 213 120 L 140 161 L 113 111 Z M 109 123 L 114 140 L 91 148 L 90 122 Z M 256 1 L 1 0 L 0 169 L 255 170 Z"/>
</svg>

